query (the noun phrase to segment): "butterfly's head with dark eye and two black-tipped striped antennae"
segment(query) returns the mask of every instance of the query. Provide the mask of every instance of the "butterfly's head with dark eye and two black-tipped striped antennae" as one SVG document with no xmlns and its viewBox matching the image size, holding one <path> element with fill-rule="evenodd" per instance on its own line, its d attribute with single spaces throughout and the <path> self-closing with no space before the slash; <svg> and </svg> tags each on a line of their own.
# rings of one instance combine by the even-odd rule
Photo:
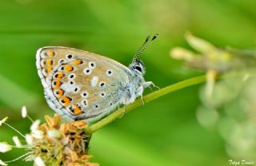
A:
<svg viewBox="0 0 256 166">
<path fill-rule="evenodd" d="M 154 41 L 154 39 L 158 38 L 158 34 L 155 34 L 153 38 L 150 40 L 150 36 L 146 38 L 143 45 L 138 49 L 138 51 L 134 55 L 134 59 L 130 64 L 130 70 L 134 73 L 144 75 L 146 73 L 146 68 L 142 60 L 138 59 L 139 55 L 145 51 L 145 49 Z"/>
</svg>

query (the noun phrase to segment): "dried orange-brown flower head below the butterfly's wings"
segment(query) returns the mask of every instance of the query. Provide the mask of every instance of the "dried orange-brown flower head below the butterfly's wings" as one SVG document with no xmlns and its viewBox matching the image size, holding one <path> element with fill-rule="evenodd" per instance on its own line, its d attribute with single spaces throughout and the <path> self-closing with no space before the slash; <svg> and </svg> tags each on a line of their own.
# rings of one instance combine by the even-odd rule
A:
<svg viewBox="0 0 256 166">
<path fill-rule="evenodd" d="M 46 124 L 38 126 L 26 137 L 32 143 L 30 155 L 26 160 L 41 159 L 46 165 L 63 166 L 97 166 L 90 163 L 92 156 L 87 155 L 87 146 L 90 136 L 86 135 L 85 121 L 74 121 L 60 124 L 61 117 L 55 114 L 54 118 L 46 116 Z M 32 124 L 38 125 L 38 122 Z M 39 136 L 38 136 L 39 135 Z M 31 137 L 32 136 L 32 141 Z"/>
</svg>

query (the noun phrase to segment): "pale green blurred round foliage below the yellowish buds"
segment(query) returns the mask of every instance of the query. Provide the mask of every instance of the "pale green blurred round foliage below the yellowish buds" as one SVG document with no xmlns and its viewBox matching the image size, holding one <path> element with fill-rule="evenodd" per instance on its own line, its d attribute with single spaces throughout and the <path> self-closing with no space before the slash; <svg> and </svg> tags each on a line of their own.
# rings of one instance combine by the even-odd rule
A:
<svg viewBox="0 0 256 166">
<path fill-rule="evenodd" d="M 197 117 L 206 128 L 217 127 L 226 140 L 226 152 L 234 159 L 256 157 L 255 77 L 226 78 L 214 86 L 212 96 L 201 91 Z"/>
</svg>

